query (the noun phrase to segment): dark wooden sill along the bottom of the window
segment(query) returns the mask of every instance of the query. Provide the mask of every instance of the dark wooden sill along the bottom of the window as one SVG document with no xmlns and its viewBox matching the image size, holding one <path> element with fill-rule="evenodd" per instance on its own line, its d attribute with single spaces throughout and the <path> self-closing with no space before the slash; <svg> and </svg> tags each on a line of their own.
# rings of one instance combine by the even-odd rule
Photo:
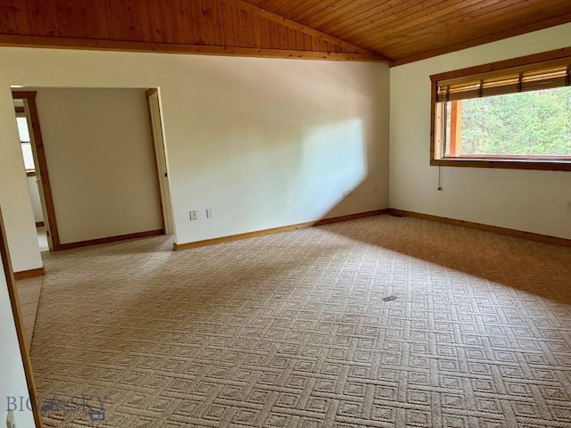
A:
<svg viewBox="0 0 571 428">
<path fill-rule="evenodd" d="M 495 158 L 443 158 L 432 159 L 430 165 L 435 167 L 468 167 L 499 169 L 542 169 L 548 171 L 571 171 L 571 159 L 538 160 L 538 159 L 495 159 Z"/>
</svg>

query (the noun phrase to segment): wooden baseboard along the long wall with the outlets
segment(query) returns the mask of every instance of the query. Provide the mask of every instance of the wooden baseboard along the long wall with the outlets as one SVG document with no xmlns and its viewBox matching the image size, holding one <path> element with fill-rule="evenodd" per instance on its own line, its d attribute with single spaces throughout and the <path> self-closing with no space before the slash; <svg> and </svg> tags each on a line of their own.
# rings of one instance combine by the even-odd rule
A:
<svg viewBox="0 0 571 428">
<path fill-rule="evenodd" d="M 354 220 L 357 218 L 378 216 L 380 214 L 387 214 L 387 213 L 389 213 L 389 209 L 360 212 L 357 214 L 349 214 L 347 216 L 323 218 L 321 220 L 308 221 L 306 223 L 298 223 L 296 225 L 280 226 L 280 227 L 273 227 L 271 229 L 256 230 L 253 232 L 247 232 L 245 234 L 220 236 L 219 238 L 206 239 L 203 241 L 195 241 L 194 243 L 173 243 L 172 247 L 174 251 L 188 250 L 191 248 L 205 247 L 207 245 L 216 245 L 218 243 L 230 243 L 232 241 L 240 241 L 243 239 L 253 238 L 256 236 L 281 234 L 282 232 L 290 232 L 292 230 L 303 229 L 306 227 L 329 225 L 331 223 Z"/>
</svg>

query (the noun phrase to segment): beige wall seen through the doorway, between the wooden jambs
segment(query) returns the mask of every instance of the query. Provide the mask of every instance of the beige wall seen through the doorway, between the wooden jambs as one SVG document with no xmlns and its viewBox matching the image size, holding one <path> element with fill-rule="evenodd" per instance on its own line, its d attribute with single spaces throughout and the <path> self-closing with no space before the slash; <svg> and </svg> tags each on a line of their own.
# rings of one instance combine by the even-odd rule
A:
<svg viewBox="0 0 571 428">
<path fill-rule="evenodd" d="M 61 243 L 162 228 L 144 89 L 37 88 Z"/>
</svg>

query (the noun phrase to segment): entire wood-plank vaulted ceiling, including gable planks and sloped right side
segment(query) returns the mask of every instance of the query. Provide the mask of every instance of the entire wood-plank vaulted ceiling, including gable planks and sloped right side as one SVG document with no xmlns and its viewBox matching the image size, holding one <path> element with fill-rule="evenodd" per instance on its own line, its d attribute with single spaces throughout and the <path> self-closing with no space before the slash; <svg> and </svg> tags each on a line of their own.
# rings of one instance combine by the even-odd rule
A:
<svg viewBox="0 0 571 428">
<path fill-rule="evenodd" d="M 394 65 L 570 21 L 569 0 L 8 0 L 0 45 Z"/>
</svg>

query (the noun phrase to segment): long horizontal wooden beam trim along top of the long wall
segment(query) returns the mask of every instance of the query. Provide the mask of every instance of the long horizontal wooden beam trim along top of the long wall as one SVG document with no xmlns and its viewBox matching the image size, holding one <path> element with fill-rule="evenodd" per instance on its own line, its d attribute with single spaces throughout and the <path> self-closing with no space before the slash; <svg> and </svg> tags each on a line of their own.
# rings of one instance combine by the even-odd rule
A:
<svg viewBox="0 0 571 428">
<path fill-rule="evenodd" d="M 382 55 L 378 55 L 377 53 L 296 51 L 285 49 L 260 49 L 255 47 L 181 45 L 65 37 L 0 35 L 0 46 L 139 53 L 180 53 L 219 56 L 248 56 L 257 58 L 285 58 L 294 60 L 390 62 L 389 59 L 385 58 Z"/>
</svg>

